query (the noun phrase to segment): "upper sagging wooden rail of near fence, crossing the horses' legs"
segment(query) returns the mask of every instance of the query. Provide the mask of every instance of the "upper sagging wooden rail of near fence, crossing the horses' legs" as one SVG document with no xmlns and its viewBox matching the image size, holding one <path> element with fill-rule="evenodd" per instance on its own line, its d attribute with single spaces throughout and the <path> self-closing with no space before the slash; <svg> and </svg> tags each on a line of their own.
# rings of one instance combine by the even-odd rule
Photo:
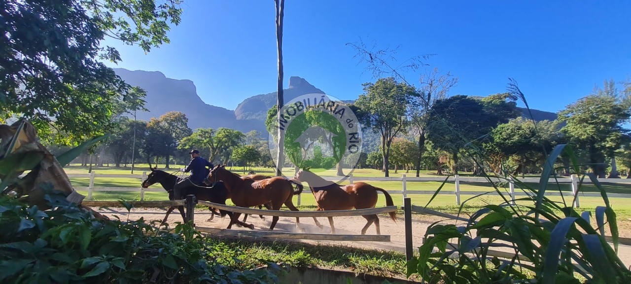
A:
<svg viewBox="0 0 631 284">
<path fill-rule="evenodd" d="M 199 205 L 210 206 L 212 208 L 223 209 L 232 212 L 264 215 L 264 216 L 280 216 L 280 217 L 336 217 L 336 216 L 361 216 L 375 215 L 380 213 L 389 213 L 397 210 L 397 206 L 386 206 L 379 208 L 357 209 L 357 210 L 332 210 L 332 211 L 277 211 L 277 210 L 260 210 L 252 208 L 244 208 L 239 206 L 229 206 L 223 204 L 212 203 L 199 200 Z"/>
</svg>

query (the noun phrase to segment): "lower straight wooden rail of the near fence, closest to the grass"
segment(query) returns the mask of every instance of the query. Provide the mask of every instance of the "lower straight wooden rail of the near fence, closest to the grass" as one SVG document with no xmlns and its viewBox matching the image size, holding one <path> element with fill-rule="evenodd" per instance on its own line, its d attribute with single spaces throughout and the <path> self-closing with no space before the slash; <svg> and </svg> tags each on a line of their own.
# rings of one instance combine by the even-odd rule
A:
<svg viewBox="0 0 631 284">
<path fill-rule="evenodd" d="M 196 230 L 213 235 L 230 237 L 264 237 L 273 239 L 301 239 L 301 240 L 347 240 L 351 242 L 389 242 L 390 235 L 332 235 L 332 234 L 303 234 L 274 231 L 230 230 L 220 228 L 195 227 Z"/>
</svg>

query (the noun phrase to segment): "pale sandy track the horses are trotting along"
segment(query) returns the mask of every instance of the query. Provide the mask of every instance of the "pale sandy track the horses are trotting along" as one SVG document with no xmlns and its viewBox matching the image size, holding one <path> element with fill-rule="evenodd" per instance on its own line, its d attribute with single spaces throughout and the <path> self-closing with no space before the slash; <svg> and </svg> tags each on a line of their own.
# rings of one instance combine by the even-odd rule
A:
<svg viewBox="0 0 631 284">
<path fill-rule="evenodd" d="M 100 208 L 100 213 L 104 213 L 108 216 L 118 215 L 121 220 L 127 219 L 127 211 L 124 208 Z M 138 220 L 143 217 L 146 221 L 162 220 L 164 218 L 166 210 L 158 208 L 134 208 L 129 215 L 129 220 Z M 210 213 L 208 210 L 195 210 L 195 224 L 200 227 L 211 228 L 226 228 L 228 226 L 228 218 L 220 218 L 215 216 L 213 220 L 209 220 Z M 243 216 L 240 216 L 240 220 L 243 220 Z M 271 225 L 271 216 L 265 216 L 264 219 L 259 216 L 248 216 L 247 223 L 254 224 L 254 230 L 268 230 Z M 329 234 L 331 227 L 327 218 L 318 218 L 319 222 L 324 225 L 323 229 L 318 228 L 313 218 L 300 218 L 300 228 L 304 229 L 304 232 L 312 234 Z M 336 228 L 336 234 L 361 234 L 363 226 L 366 224 L 365 218 L 362 216 L 343 216 L 334 217 L 334 226 Z M 387 251 L 399 251 L 405 253 L 405 229 L 404 220 L 402 215 L 398 215 L 396 223 L 391 220 L 389 216 L 379 215 L 380 230 L 382 235 L 390 235 L 390 242 L 341 242 L 341 241 L 329 241 L 329 240 L 298 240 L 301 242 L 309 242 L 312 244 L 333 244 L 336 246 L 350 246 L 361 247 L 369 249 L 387 250 Z M 423 243 L 423 235 L 427 230 L 427 227 L 434 222 L 440 221 L 442 218 L 432 215 L 413 215 L 412 220 L 412 242 L 415 247 L 415 252 Z M 182 217 L 179 212 L 175 210 L 169 216 L 168 223 L 182 222 Z M 620 227 L 620 237 L 631 237 L 631 220 L 620 220 L 618 222 Z M 249 228 L 241 228 L 233 226 L 236 230 L 250 230 Z M 280 217 L 274 232 L 299 232 L 296 228 L 295 218 Z M 375 226 L 371 225 L 366 234 L 376 234 Z M 623 263 L 627 266 L 631 266 L 631 246 L 620 245 L 618 256 L 622 259 Z"/>
</svg>

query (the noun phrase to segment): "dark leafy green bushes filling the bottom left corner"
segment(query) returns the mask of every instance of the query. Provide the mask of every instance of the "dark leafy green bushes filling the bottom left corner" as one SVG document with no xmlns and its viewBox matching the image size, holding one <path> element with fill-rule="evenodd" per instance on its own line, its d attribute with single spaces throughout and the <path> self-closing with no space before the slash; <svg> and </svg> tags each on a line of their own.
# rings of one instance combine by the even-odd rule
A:
<svg viewBox="0 0 631 284">
<path fill-rule="evenodd" d="M 261 283 L 269 271 L 233 271 L 208 257 L 211 248 L 191 224 L 95 220 L 47 196 L 40 211 L 0 198 L 0 281 L 6 283 Z"/>
</svg>

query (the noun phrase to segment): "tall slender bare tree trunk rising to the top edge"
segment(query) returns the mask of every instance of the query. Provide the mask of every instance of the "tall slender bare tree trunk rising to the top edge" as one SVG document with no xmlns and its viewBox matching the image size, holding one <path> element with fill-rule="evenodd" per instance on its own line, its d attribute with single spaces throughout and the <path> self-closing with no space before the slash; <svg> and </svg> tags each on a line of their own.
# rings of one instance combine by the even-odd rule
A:
<svg viewBox="0 0 631 284">
<path fill-rule="evenodd" d="M 274 0 L 276 3 L 276 47 L 278 48 L 278 81 L 277 83 L 277 96 L 276 96 L 276 108 L 278 109 L 278 113 L 276 114 L 276 119 L 278 121 L 281 120 L 281 107 L 285 104 L 285 100 L 283 98 L 283 18 L 285 16 L 285 0 Z M 281 131 L 280 127 L 278 127 L 278 133 L 276 134 L 278 138 L 278 153 L 276 153 L 276 175 L 282 175 L 283 171 L 283 163 L 285 162 L 285 151 L 283 148 L 285 147 L 285 135 L 284 132 Z"/>
</svg>

